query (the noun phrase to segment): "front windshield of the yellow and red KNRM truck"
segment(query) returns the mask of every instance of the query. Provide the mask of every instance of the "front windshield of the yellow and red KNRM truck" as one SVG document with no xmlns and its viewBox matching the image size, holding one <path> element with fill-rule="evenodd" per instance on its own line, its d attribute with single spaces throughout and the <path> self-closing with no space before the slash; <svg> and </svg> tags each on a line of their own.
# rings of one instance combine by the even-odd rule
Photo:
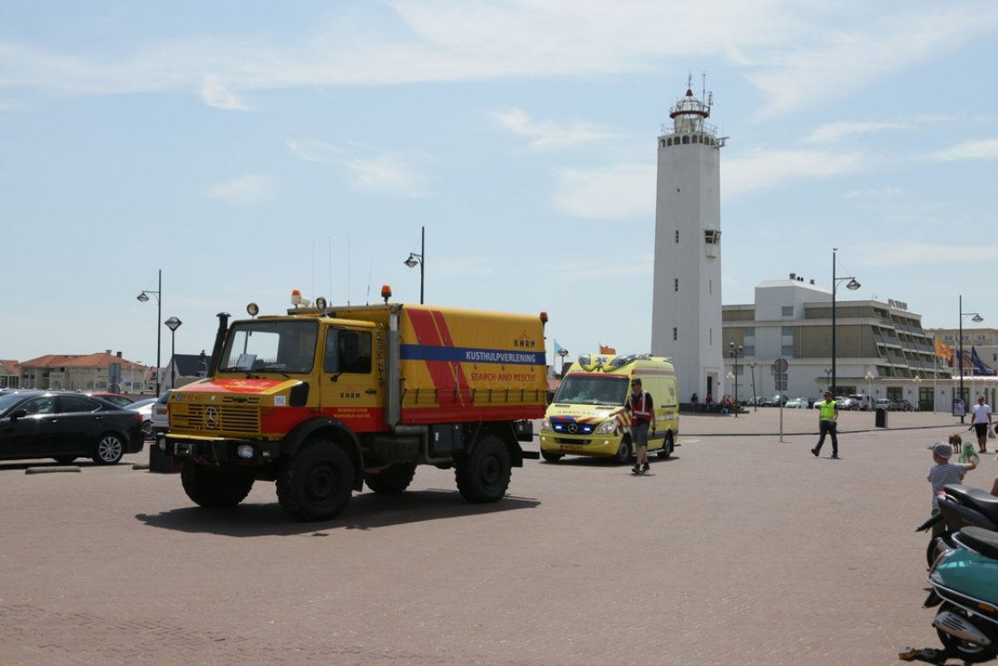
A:
<svg viewBox="0 0 998 666">
<path fill-rule="evenodd" d="M 310 372 L 317 336 L 317 322 L 237 322 L 226 339 L 219 367 L 223 372 Z"/>
</svg>

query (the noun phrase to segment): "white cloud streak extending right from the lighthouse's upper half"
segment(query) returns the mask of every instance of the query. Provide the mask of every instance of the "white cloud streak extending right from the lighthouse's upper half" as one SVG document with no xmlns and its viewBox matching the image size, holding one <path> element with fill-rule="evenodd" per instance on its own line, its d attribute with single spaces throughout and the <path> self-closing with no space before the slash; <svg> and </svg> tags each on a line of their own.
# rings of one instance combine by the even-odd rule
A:
<svg viewBox="0 0 998 666">
<path fill-rule="evenodd" d="M 862 166 L 861 153 L 757 152 L 725 160 L 721 194 L 734 197 L 789 181 L 830 178 L 859 171 Z"/>
</svg>

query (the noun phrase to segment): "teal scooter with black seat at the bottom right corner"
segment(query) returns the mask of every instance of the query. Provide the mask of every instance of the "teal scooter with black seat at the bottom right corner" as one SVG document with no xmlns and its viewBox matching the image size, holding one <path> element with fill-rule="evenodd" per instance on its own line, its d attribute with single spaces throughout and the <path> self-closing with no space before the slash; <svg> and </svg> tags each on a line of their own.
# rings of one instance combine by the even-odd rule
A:
<svg viewBox="0 0 998 666">
<path fill-rule="evenodd" d="M 998 657 L 998 532 L 966 527 L 955 548 L 932 564 L 924 606 L 939 606 L 932 626 L 945 652 L 978 664 Z"/>
</svg>

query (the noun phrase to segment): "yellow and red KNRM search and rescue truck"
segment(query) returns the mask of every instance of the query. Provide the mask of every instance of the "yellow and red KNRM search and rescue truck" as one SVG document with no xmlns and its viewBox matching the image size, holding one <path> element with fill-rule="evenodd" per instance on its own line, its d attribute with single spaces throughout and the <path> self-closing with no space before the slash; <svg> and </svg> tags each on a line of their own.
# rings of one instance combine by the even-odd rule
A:
<svg viewBox="0 0 998 666">
<path fill-rule="evenodd" d="M 302 520 L 332 518 L 362 484 L 396 493 L 453 467 L 470 502 L 506 494 L 544 415 L 547 315 L 388 303 L 220 315 L 210 376 L 170 395 L 164 452 L 188 496 L 233 506 L 256 480 Z"/>
</svg>

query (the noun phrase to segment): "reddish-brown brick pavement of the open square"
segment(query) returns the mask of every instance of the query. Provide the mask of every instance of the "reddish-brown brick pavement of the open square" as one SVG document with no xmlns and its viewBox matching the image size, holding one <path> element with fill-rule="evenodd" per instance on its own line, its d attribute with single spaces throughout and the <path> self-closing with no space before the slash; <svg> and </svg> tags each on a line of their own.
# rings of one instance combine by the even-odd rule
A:
<svg viewBox="0 0 998 666">
<path fill-rule="evenodd" d="M 925 446 L 957 419 L 845 414 L 836 461 L 791 411 L 783 441 L 778 409 L 685 418 L 644 477 L 528 460 L 494 505 L 421 467 L 325 523 L 287 521 L 270 483 L 206 511 L 176 475 L 0 464 L 0 663 L 865 666 L 937 645 L 913 528 Z"/>
</svg>

